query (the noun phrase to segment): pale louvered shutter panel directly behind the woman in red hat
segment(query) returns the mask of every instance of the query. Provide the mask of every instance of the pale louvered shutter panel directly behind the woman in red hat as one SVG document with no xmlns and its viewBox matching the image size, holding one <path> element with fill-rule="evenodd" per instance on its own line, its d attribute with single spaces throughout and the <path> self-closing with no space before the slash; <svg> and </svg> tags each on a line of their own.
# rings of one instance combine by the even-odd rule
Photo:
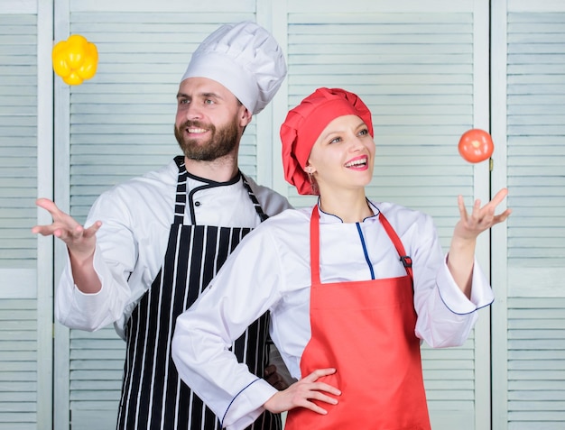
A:
<svg viewBox="0 0 565 430">
<path fill-rule="evenodd" d="M 447 251 L 458 194 L 468 206 L 473 197 L 488 196 L 488 163 L 473 167 L 457 150 L 461 133 L 488 124 L 487 2 L 288 1 L 277 7 L 274 15 L 286 20 L 277 36 L 288 38 L 289 78 L 288 103 L 276 114 L 282 121 L 285 110 L 317 87 L 361 96 L 375 125 L 368 197 L 432 215 Z M 273 164 L 280 169 L 278 189 L 294 206 L 310 205 L 314 197 L 298 196 L 280 179 L 280 151 Z M 486 239 L 479 249 L 487 273 L 485 245 Z M 423 350 L 434 429 L 488 425 L 488 311 L 480 320 L 463 347 Z"/>
</svg>

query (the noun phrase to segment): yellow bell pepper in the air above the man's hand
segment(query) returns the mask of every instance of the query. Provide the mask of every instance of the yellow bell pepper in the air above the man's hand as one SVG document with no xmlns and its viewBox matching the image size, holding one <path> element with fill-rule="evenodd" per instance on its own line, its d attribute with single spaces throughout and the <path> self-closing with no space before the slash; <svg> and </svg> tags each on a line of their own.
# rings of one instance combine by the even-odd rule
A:
<svg viewBox="0 0 565 430">
<path fill-rule="evenodd" d="M 72 34 L 57 43 L 51 52 L 53 70 L 69 85 L 79 85 L 92 78 L 98 65 L 98 50 L 94 43 L 80 34 Z"/>
</svg>

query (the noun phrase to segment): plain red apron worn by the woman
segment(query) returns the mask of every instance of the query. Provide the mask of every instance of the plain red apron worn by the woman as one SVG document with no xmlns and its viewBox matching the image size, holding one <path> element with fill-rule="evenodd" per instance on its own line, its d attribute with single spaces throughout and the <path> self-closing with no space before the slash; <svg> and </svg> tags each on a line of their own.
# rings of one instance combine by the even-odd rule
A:
<svg viewBox="0 0 565 430">
<path fill-rule="evenodd" d="M 379 215 L 406 267 L 406 276 L 353 282 L 320 282 L 320 214 L 310 220 L 311 338 L 301 375 L 335 368 L 321 378 L 341 390 L 338 405 L 317 402 L 320 415 L 289 411 L 285 430 L 431 430 L 421 373 L 420 340 L 414 334 L 410 259 L 394 229 Z"/>
</svg>

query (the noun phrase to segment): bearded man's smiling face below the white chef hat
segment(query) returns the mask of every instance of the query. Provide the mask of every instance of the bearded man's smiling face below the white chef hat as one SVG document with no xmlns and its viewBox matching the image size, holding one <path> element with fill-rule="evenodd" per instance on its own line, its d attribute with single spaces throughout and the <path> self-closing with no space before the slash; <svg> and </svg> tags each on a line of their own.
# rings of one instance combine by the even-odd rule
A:
<svg viewBox="0 0 565 430">
<path fill-rule="evenodd" d="M 251 114 L 226 87 L 188 78 L 177 95 L 174 134 L 190 160 L 211 161 L 237 151 Z"/>
</svg>

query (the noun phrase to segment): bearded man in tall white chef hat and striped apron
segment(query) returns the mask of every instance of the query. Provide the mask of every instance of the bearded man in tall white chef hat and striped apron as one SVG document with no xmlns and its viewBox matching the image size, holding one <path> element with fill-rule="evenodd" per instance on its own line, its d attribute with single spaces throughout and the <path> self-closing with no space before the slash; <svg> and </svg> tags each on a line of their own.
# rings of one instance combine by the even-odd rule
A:
<svg viewBox="0 0 565 430">
<path fill-rule="evenodd" d="M 237 166 L 245 126 L 285 75 L 282 50 L 264 28 L 221 26 L 193 53 L 181 79 L 174 133 L 184 156 L 98 197 L 88 228 L 50 200 L 37 202 L 53 223 L 32 232 L 53 234 L 69 250 L 57 318 L 89 331 L 114 323 L 127 343 L 118 429 L 219 428 L 218 418 L 181 382 L 171 337 L 176 317 L 245 234 L 289 207 Z M 260 377 L 267 336 L 264 315 L 232 345 Z M 281 428 L 280 417 L 260 416 L 249 428 Z"/>
</svg>

